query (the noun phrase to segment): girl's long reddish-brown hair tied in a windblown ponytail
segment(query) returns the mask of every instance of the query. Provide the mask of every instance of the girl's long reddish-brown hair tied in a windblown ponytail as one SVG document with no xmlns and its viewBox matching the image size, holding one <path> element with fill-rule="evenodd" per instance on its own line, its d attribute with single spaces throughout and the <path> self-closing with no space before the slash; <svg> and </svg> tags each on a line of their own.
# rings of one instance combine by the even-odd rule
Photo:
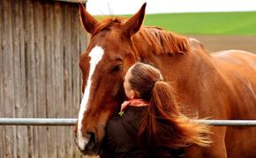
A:
<svg viewBox="0 0 256 158">
<path fill-rule="evenodd" d="M 157 68 L 138 62 L 132 66 L 128 81 L 138 97 L 149 102 L 139 138 L 162 148 L 206 147 L 211 143 L 209 126 L 192 122 L 181 113 L 171 86 Z"/>
</svg>

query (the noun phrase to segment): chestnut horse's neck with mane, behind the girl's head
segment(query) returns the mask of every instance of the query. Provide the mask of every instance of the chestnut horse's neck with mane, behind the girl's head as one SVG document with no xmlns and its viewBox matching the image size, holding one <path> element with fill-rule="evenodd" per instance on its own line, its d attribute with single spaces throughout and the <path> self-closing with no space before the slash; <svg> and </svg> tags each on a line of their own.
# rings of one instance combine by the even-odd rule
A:
<svg viewBox="0 0 256 158">
<path fill-rule="evenodd" d="M 196 39 L 144 28 L 132 40 L 139 60 L 154 63 L 177 89 L 193 90 L 200 85 L 199 77 L 211 80 L 217 74 L 211 56 Z"/>
</svg>

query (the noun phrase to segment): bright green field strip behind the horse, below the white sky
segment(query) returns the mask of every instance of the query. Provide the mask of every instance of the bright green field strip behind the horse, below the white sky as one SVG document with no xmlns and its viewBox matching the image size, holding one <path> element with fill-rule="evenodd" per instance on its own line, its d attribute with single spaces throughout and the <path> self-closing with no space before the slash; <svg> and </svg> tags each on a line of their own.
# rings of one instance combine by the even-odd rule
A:
<svg viewBox="0 0 256 158">
<path fill-rule="evenodd" d="M 181 34 L 256 35 L 256 11 L 148 14 L 144 25 Z"/>
</svg>

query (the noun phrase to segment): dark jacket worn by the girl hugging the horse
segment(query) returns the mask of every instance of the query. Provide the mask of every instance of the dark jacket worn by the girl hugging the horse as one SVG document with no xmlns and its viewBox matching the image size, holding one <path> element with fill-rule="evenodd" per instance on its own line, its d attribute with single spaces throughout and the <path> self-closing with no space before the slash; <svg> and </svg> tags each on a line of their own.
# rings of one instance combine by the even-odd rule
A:
<svg viewBox="0 0 256 158">
<path fill-rule="evenodd" d="M 151 158 L 156 156 L 157 149 L 154 144 L 148 144 L 138 139 L 139 126 L 147 106 L 128 106 L 124 114 L 111 118 L 106 127 L 106 135 L 103 140 L 102 158 Z M 184 149 L 173 149 L 169 151 L 172 158 L 181 158 Z"/>
</svg>

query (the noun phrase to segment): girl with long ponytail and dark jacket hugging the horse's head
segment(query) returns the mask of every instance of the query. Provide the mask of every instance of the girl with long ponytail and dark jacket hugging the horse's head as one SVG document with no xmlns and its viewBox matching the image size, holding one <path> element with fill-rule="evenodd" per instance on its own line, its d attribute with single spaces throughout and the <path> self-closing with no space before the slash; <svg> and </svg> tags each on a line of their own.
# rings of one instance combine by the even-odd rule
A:
<svg viewBox="0 0 256 158">
<path fill-rule="evenodd" d="M 185 117 L 161 72 L 135 63 L 124 77 L 128 101 L 106 128 L 101 157 L 182 157 L 190 144 L 209 146 L 210 131 Z"/>
</svg>

